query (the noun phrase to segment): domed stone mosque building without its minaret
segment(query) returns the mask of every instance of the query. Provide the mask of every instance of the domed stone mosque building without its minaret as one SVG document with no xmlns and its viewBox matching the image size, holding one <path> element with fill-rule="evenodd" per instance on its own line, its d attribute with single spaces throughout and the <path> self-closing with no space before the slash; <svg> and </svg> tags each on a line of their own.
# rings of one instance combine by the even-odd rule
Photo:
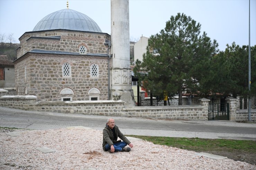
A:
<svg viewBox="0 0 256 170">
<path fill-rule="evenodd" d="M 37 101 L 108 100 L 111 37 L 91 18 L 71 9 L 56 11 L 19 40 L 18 95 Z"/>
</svg>

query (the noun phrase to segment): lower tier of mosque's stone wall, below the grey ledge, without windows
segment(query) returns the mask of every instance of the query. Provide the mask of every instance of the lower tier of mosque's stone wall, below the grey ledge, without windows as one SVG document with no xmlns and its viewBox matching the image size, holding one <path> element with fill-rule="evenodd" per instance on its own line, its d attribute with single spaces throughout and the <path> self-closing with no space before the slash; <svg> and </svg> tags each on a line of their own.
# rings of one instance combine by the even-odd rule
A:
<svg viewBox="0 0 256 170">
<path fill-rule="evenodd" d="M 62 74 L 62 66 L 66 62 L 71 65 L 70 77 Z M 92 64 L 98 65 L 98 77 L 91 77 Z M 90 100 L 88 91 L 98 88 L 98 100 L 108 100 L 108 57 L 35 53 L 15 67 L 18 95 L 35 95 L 37 101 L 61 101 L 62 97 Z M 60 94 L 63 88 L 71 89 L 74 94 Z"/>
</svg>

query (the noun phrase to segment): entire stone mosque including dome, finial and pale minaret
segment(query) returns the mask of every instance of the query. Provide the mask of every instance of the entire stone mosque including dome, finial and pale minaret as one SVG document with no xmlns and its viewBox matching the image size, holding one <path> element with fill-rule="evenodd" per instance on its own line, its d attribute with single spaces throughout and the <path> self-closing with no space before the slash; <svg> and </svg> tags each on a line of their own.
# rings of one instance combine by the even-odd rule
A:
<svg viewBox="0 0 256 170">
<path fill-rule="evenodd" d="M 118 6 L 118 7 L 117 7 Z M 134 106 L 129 53 L 129 1 L 111 0 L 111 36 L 85 14 L 48 14 L 20 38 L 18 95 L 37 101 L 123 100 Z M 128 17 L 127 17 L 128 16 Z"/>
</svg>

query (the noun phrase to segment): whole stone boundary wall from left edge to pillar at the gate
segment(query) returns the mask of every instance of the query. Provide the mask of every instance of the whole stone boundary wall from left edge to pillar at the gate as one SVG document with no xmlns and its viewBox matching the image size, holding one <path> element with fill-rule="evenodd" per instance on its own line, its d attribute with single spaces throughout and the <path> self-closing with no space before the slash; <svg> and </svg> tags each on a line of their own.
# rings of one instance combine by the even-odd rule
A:
<svg viewBox="0 0 256 170">
<path fill-rule="evenodd" d="M 81 113 L 102 116 L 143 117 L 159 119 L 208 120 L 209 99 L 201 105 L 125 107 L 122 100 L 36 102 L 36 96 L 1 96 L 0 106 L 35 111 Z"/>
</svg>

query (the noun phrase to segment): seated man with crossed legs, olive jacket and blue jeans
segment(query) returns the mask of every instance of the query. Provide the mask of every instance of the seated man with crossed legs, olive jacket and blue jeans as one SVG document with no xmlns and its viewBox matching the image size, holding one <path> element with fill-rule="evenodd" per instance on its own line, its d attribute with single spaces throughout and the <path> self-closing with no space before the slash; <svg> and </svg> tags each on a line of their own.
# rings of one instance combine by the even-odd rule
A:
<svg viewBox="0 0 256 170">
<path fill-rule="evenodd" d="M 117 141 L 118 137 L 123 142 L 121 140 Z M 120 132 L 118 126 L 115 125 L 115 120 L 109 118 L 106 127 L 103 129 L 103 150 L 109 151 L 109 153 L 114 153 L 115 151 L 129 152 L 131 148 L 125 148 L 127 144 L 131 148 L 133 147 L 133 144 Z"/>
</svg>

